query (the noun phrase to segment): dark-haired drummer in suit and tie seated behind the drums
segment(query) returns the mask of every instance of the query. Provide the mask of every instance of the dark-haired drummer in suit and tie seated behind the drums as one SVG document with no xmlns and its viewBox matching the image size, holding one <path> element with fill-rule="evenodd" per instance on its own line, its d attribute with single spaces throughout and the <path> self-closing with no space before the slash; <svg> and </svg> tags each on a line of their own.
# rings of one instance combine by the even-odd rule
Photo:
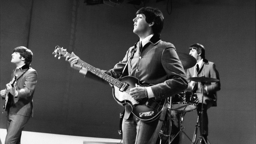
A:
<svg viewBox="0 0 256 144">
<path fill-rule="evenodd" d="M 186 76 L 189 77 L 201 77 L 203 74 L 205 77 L 220 79 L 219 73 L 216 69 L 215 63 L 210 62 L 205 59 L 205 48 L 201 44 L 193 44 L 189 47 L 189 54 L 196 59 L 196 65 L 194 67 L 189 68 L 186 71 Z M 196 93 L 198 98 L 198 108 L 197 114 L 199 115 L 199 124 L 201 124 L 201 106 L 202 106 L 202 88 L 200 82 L 194 82 L 188 80 L 188 89 L 187 91 L 191 91 Z M 207 109 L 211 106 L 217 106 L 217 91 L 220 90 L 220 82 L 214 83 L 206 83 L 204 87 L 204 102 L 203 102 L 203 127 L 202 127 L 202 136 L 207 142 L 208 135 L 208 116 Z M 179 115 L 177 113 L 173 113 L 174 119 L 174 131 L 175 127 L 179 126 Z M 179 130 L 179 129 L 177 129 Z M 201 127 L 200 127 L 201 132 Z M 201 133 L 200 133 L 201 134 Z M 176 138 L 175 138 L 176 140 Z M 178 139 L 177 139 L 178 140 Z M 203 142 L 204 143 L 204 142 Z"/>
</svg>

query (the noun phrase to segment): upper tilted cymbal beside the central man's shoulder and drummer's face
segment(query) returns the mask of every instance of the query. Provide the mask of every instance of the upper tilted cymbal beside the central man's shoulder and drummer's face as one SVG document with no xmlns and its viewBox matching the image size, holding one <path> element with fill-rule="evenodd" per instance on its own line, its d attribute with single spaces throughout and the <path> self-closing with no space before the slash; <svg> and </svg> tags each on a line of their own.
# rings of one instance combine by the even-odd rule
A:
<svg viewBox="0 0 256 144">
<path fill-rule="evenodd" d="M 188 69 L 196 65 L 196 59 L 193 56 L 184 52 L 177 52 L 177 54 L 184 69 Z"/>
</svg>

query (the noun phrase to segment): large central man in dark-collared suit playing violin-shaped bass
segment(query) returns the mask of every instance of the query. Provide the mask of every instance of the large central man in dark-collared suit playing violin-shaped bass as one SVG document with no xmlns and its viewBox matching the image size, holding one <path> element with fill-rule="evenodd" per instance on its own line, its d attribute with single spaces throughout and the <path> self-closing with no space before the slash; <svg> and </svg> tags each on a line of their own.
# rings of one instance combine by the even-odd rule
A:
<svg viewBox="0 0 256 144">
<path fill-rule="evenodd" d="M 123 70 L 127 68 L 128 76 L 139 79 L 141 85 L 135 84 L 135 87 L 129 89 L 129 96 L 133 100 L 140 101 L 146 98 L 154 102 L 166 99 L 184 91 L 188 86 L 184 68 L 174 45 L 159 38 L 163 28 L 163 19 L 163 14 L 159 9 L 151 7 L 139 9 L 133 19 L 133 32 L 140 40 L 127 50 L 125 57 L 114 68 L 108 71 L 102 70 L 114 78 L 119 78 Z M 93 71 L 90 67 L 79 63 L 79 60 L 73 52 L 71 56 L 66 57 L 66 61 L 72 68 L 79 70 L 79 73 L 86 74 L 86 77 L 92 77 Z M 148 102 L 144 105 L 147 104 Z M 158 105 L 158 103 L 155 104 Z M 125 144 L 156 143 L 161 129 L 159 124 L 162 124 L 161 120 L 164 119 L 167 109 L 167 105 L 160 104 L 158 108 L 161 106 L 163 106 L 161 116 L 145 122 L 142 120 L 143 116 L 154 113 L 140 113 L 140 116 L 136 116 L 132 113 L 131 105 L 125 105 L 122 122 L 123 142 Z"/>
</svg>

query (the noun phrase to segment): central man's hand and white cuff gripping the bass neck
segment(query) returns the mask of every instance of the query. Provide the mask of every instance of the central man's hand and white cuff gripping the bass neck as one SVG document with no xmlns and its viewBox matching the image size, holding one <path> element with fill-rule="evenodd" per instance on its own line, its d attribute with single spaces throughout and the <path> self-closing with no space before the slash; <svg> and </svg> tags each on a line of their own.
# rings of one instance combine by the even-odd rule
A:
<svg viewBox="0 0 256 144">
<path fill-rule="evenodd" d="M 77 64 L 77 62 L 80 60 L 80 58 L 78 56 L 76 56 L 74 54 L 74 52 L 72 52 L 71 54 L 72 54 L 72 56 L 66 57 L 66 61 L 68 61 L 70 63 L 70 66 L 72 68 L 74 68 L 75 70 L 79 70 L 79 73 L 86 75 L 88 70 L 86 68 L 84 68 L 83 66 Z"/>
</svg>

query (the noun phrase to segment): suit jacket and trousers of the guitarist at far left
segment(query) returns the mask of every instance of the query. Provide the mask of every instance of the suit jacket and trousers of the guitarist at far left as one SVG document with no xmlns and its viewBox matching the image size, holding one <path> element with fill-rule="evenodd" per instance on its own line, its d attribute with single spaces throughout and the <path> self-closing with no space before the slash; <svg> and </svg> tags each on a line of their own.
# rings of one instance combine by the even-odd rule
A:
<svg viewBox="0 0 256 144">
<path fill-rule="evenodd" d="M 33 94 L 37 82 L 37 73 L 33 68 L 24 65 L 17 71 L 13 70 L 12 77 L 15 74 L 18 75 L 16 82 L 18 95 L 17 98 L 9 97 L 11 104 L 7 114 L 5 143 L 19 143 L 26 122 L 30 117 L 33 117 Z"/>
</svg>

